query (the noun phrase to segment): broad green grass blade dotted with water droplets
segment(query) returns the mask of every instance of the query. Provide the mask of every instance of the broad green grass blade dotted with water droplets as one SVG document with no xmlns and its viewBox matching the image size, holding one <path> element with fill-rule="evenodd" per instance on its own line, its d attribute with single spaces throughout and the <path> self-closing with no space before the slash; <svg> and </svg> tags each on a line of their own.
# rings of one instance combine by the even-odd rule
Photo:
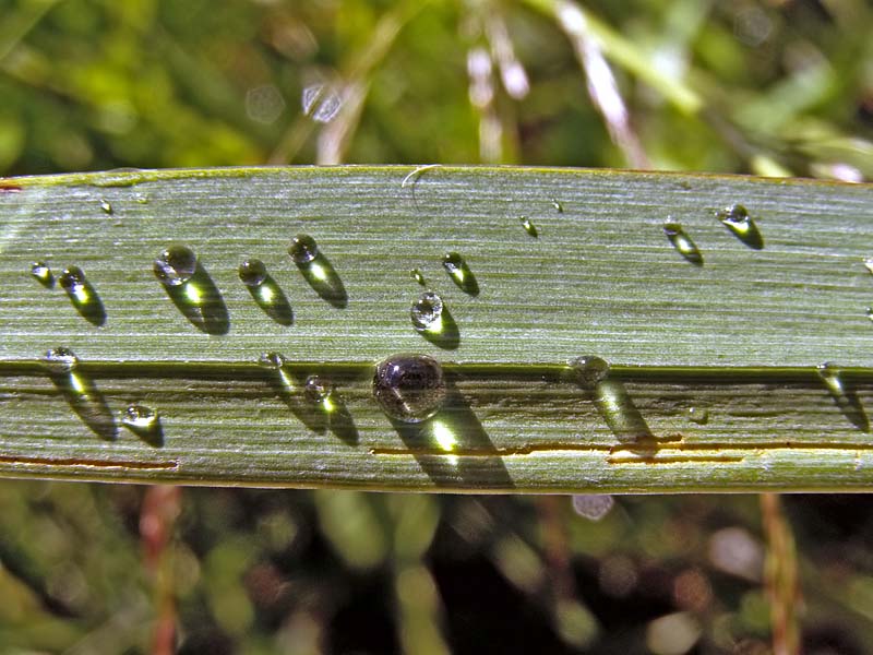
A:
<svg viewBox="0 0 873 655">
<path fill-rule="evenodd" d="M 0 474 L 476 492 L 873 488 L 871 186 L 412 171 L 0 180 Z M 761 248 L 717 218 L 734 203 Z M 699 261 L 665 234 L 668 216 Z M 318 241 L 345 303 L 294 265 L 298 234 Z M 155 278 L 171 243 L 198 253 L 220 294 L 219 329 L 186 318 Z M 449 251 L 478 295 L 443 270 Z M 240 282 L 251 257 L 287 295 L 291 325 Z M 56 275 L 80 266 L 105 321 L 40 285 L 34 261 Z M 412 329 L 426 289 L 451 311 L 454 342 Z M 79 357 L 74 380 L 45 367 L 60 346 Z M 286 357 L 284 381 L 256 364 L 265 352 Z M 374 401 L 374 364 L 395 353 L 443 362 L 449 400 L 433 419 L 392 422 Z M 611 362 L 605 381 L 579 384 L 567 362 L 585 355 Z M 840 368 L 823 377 L 825 361 Z M 335 384 L 336 412 L 307 401 L 312 374 Z M 131 403 L 158 412 L 159 439 L 122 427 Z"/>
</svg>

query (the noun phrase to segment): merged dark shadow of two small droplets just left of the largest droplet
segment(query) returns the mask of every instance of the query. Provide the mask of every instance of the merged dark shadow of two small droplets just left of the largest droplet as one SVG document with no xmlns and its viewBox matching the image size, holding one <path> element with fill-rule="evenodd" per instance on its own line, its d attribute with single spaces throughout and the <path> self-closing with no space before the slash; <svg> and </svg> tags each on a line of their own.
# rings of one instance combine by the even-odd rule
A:
<svg viewBox="0 0 873 655">
<path fill-rule="evenodd" d="M 286 369 L 272 369 L 264 371 L 264 378 L 276 396 L 307 428 L 319 434 L 330 430 L 344 443 L 358 444 L 360 434 L 355 419 L 337 392 L 331 394 L 332 408 L 327 410 L 321 403 L 312 403 L 303 396 L 304 376 L 292 374 Z"/>
</svg>

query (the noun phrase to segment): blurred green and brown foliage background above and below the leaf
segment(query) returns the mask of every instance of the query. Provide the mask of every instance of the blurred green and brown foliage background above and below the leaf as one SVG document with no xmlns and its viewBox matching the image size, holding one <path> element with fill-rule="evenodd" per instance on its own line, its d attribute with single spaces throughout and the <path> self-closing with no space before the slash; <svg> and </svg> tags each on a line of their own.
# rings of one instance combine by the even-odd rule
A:
<svg viewBox="0 0 873 655">
<path fill-rule="evenodd" d="M 871 34 L 863 0 L 0 0 L 0 175 L 642 153 L 858 181 Z M 869 504 L 784 507 L 804 652 L 869 652 Z M 9 481 L 0 644 L 766 653 L 765 527 L 751 497 L 624 498 L 590 522 L 549 497 Z"/>
</svg>

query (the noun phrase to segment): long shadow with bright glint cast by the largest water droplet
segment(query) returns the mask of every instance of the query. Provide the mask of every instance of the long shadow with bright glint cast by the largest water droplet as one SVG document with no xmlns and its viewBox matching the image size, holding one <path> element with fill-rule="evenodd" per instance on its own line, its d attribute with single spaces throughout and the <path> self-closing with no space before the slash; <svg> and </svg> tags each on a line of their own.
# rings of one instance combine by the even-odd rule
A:
<svg viewBox="0 0 873 655">
<path fill-rule="evenodd" d="M 491 438 L 451 379 L 445 405 L 435 416 L 418 424 L 391 422 L 435 485 L 514 488 Z"/>
</svg>

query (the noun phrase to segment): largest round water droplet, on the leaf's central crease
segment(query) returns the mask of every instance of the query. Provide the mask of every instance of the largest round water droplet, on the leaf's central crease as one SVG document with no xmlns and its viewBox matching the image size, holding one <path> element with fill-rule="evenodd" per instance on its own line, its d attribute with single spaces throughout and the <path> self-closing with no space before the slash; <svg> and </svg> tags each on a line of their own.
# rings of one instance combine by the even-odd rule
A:
<svg viewBox="0 0 873 655">
<path fill-rule="evenodd" d="M 373 376 L 373 397 L 392 419 L 421 422 L 445 403 L 440 362 L 427 355 L 393 355 L 380 361 Z"/>
</svg>

